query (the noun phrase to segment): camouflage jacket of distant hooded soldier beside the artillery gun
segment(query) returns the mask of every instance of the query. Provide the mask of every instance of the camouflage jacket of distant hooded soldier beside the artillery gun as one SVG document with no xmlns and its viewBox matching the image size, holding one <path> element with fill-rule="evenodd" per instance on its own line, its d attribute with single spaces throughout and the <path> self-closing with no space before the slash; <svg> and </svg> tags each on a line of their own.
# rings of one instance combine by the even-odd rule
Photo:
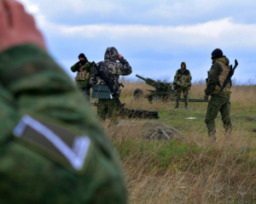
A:
<svg viewBox="0 0 256 204">
<path fill-rule="evenodd" d="M 182 65 L 185 65 L 185 69 L 179 69 L 176 71 L 173 85 L 177 85 L 181 88 L 191 87 L 192 77 L 190 71 L 187 70 L 186 64 L 183 62 Z"/>
</svg>

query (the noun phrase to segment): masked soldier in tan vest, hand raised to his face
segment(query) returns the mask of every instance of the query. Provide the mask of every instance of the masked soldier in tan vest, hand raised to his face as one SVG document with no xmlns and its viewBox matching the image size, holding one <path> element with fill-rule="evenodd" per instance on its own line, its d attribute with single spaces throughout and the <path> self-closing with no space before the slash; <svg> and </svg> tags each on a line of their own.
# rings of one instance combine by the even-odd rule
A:
<svg viewBox="0 0 256 204">
<path fill-rule="evenodd" d="M 90 102 L 90 75 L 93 69 L 90 61 L 88 61 L 84 54 L 79 54 L 79 61 L 70 69 L 73 72 L 78 71 L 77 77 L 75 77 L 76 86 Z"/>
</svg>

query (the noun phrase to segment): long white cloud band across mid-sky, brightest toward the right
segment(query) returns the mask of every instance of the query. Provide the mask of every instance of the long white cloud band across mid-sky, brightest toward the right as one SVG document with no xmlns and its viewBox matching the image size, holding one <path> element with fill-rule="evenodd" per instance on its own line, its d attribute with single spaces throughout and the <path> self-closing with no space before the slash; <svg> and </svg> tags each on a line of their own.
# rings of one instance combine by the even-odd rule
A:
<svg viewBox="0 0 256 204">
<path fill-rule="evenodd" d="M 103 38 L 110 41 L 140 42 L 152 47 L 158 43 L 162 48 L 177 46 L 213 46 L 227 48 L 255 48 L 256 25 L 236 24 L 232 18 L 212 20 L 191 26 L 143 26 L 143 25 L 86 25 L 62 26 L 47 23 L 45 29 L 67 38 Z"/>
</svg>

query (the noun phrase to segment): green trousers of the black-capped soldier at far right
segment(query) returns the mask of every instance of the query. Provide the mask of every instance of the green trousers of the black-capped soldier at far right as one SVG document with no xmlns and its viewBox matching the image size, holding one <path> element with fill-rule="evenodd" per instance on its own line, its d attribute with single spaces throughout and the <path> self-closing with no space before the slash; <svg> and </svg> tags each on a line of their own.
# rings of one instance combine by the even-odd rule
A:
<svg viewBox="0 0 256 204">
<path fill-rule="evenodd" d="M 207 124 L 208 135 L 213 137 L 213 139 L 215 139 L 216 133 L 214 119 L 218 115 L 218 111 L 220 111 L 227 137 L 232 129 L 230 120 L 230 94 L 214 94 L 209 100 L 205 122 Z"/>
</svg>

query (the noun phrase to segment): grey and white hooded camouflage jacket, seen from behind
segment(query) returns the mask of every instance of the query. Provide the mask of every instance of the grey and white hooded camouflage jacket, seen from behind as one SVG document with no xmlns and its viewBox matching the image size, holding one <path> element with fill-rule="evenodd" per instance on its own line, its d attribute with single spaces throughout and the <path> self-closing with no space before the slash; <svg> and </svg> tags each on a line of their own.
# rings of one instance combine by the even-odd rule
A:
<svg viewBox="0 0 256 204">
<path fill-rule="evenodd" d="M 108 80 L 112 82 L 114 90 L 117 94 L 121 93 L 119 89 L 119 76 L 127 76 L 131 74 L 131 66 L 123 58 L 119 60 L 119 63 L 116 60 L 119 59 L 119 53 L 116 48 L 107 48 L 104 61 L 97 63 L 96 65 L 100 67 L 100 70 L 108 77 Z M 105 82 L 99 77 L 96 69 L 93 69 L 90 84 L 100 84 L 104 85 Z"/>
</svg>

